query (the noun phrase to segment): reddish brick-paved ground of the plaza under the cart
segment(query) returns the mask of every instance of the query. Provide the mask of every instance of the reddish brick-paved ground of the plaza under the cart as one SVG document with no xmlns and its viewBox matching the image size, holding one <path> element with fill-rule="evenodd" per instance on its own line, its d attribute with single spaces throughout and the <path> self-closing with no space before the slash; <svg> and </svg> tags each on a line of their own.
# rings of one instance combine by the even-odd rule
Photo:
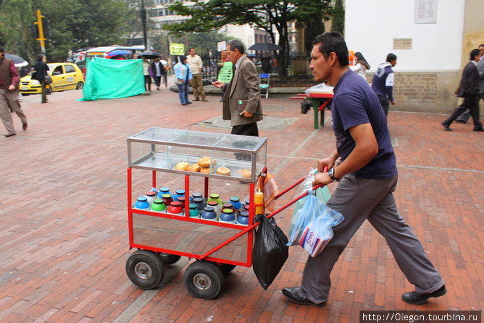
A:
<svg viewBox="0 0 484 323">
<path fill-rule="evenodd" d="M 448 133 L 440 126 L 442 115 L 389 116 L 400 172 L 398 207 L 445 278 L 445 297 L 423 306 L 402 302 L 400 295 L 412 286 L 384 239 L 365 223 L 333 270 L 326 306 L 297 306 L 281 294 L 300 282 L 306 254 L 299 247 L 290 248 L 268 290 L 252 268 L 236 267 L 221 295 L 209 301 L 185 289 L 186 258 L 169 268 L 156 290 L 137 288 L 124 273 L 132 252 L 126 138 L 149 127 L 229 133 L 217 120 L 219 97 L 181 106 L 167 89 L 75 101 L 81 96 L 54 93 L 48 104 L 40 104 L 38 95 L 24 97 L 28 130 L 19 130 L 14 116 L 18 135 L 0 138 L 1 322 L 355 322 L 361 310 L 482 310 L 484 137 L 472 125 L 453 124 Z M 268 168 L 285 188 L 331 152 L 333 134 L 331 127 L 313 129 L 312 115 L 301 115 L 299 101 L 263 99 L 263 107 L 266 120 L 275 120 L 260 124 L 261 136 L 268 137 Z M 216 122 L 203 122 L 211 118 Z M 149 174 L 133 174 L 134 192 L 149 187 Z M 162 181 L 180 185 L 176 176 Z M 223 187 L 223 196 L 248 190 L 238 182 L 211 184 Z M 290 213 L 277 215 L 284 230 Z"/>
</svg>

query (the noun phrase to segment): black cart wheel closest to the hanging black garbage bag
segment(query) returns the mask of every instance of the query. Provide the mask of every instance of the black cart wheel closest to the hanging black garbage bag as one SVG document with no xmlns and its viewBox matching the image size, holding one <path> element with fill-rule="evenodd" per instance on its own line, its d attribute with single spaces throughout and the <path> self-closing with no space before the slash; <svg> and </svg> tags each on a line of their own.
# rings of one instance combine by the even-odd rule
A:
<svg viewBox="0 0 484 323">
<path fill-rule="evenodd" d="M 212 299 L 222 289 L 223 273 L 213 262 L 198 260 L 187 267 L 183 282 L 194 297 Z"/>
</svg>

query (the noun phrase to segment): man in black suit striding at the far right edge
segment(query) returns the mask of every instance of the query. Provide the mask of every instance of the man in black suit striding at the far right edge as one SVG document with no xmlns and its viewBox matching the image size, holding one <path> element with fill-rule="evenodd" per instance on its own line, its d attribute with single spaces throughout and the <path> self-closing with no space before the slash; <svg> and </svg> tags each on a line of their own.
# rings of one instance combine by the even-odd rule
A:
<svg viewBox="0 0 484 323">
<path fill-rule="evenodd" d="M 462 73 L 462 79 L 460 80 L 460 87 L 458 89 L 457 96 L 459 98 L 464 98 L 463 104 L 452 113 L 452 115 L 442 122 L 444 129 L 446 131 L 452 131 L 450 129 L 450 124 L 452 121 L 456 120 L 465 109 L 471 111 L 472 120 L 474 120 L 473 131 L 484 131 L 483 124 L 479 120 L 479 73 L 477 71 L 477 63 L 481 58 L 478 49 L 473 49 L 470 55 L 470 62 L 464 68 Z"/>
</svg>

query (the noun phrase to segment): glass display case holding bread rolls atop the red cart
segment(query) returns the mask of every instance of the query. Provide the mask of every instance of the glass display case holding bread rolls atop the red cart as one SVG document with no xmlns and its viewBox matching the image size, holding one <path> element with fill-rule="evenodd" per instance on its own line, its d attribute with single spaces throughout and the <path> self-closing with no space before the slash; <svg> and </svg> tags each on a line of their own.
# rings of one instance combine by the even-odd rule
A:
<svg viewBox="0 0 484 323">
<path fill-rule="evenodd" d="M 267 138 L 149 128 L 127 138 L 132 168 L 254 183 L 267 163 Z"/>
</svg>

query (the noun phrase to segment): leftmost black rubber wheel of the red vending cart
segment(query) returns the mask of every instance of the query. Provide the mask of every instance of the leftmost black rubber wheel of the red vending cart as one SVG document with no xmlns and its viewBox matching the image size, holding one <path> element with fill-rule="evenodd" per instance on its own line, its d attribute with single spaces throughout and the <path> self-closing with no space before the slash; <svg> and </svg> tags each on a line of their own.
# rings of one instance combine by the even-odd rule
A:
<svg viewBox="0 0 484 323">
<path fill-rule="evenodd" d="M 165 276 L 165 265 L 155 252 L 138 250 L 126 261 L 126 274 L 139 288 L 151 289 L 158 286 Z"/>
</svg>

